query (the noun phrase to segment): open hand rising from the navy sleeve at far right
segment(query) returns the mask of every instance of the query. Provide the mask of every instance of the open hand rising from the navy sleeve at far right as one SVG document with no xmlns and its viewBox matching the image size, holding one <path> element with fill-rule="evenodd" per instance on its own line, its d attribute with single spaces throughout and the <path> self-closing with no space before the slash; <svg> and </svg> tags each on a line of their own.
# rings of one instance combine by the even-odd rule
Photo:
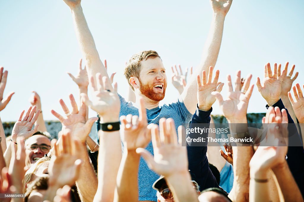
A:
<svg viewBox="0 0 304 202">
<path fill-rule="evenodd" d="M 285 70 L 283 70 L 282 75 L 277 78 L 277 63 L 274 64 L 274 72 L 272 74 L 270 63 L 268 62 L 264 67 L 263 85 L 261 85 L 260 78 L 257 77 L 257 89 L 269 106 L 274 105 L 280 99 L 283 75 L 285 75 Z"/>
</svg>

